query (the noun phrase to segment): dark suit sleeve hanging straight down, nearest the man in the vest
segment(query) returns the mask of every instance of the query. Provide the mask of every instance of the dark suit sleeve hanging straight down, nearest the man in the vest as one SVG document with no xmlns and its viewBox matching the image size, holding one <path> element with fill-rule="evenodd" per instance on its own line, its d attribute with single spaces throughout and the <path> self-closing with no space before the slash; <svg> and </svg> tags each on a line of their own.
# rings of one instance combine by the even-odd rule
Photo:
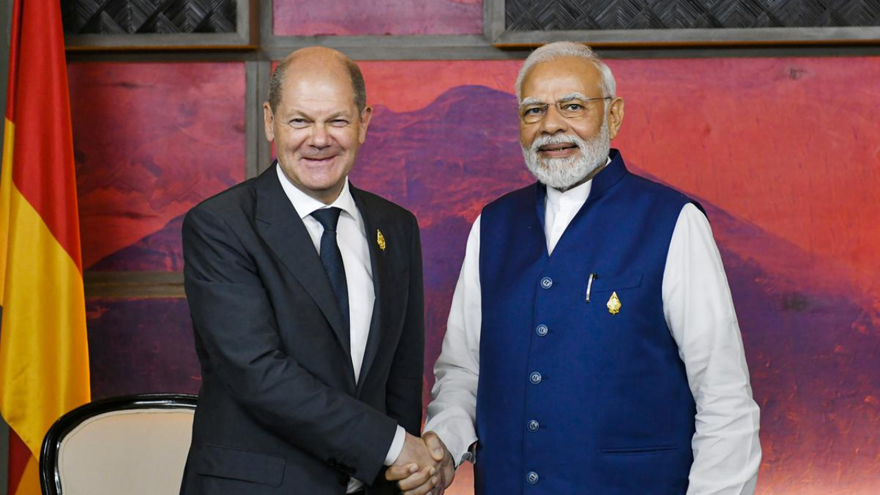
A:
<svg viewBox="0 0 880 495">
<path fill-rule="evenodd" d="M 422 375 L 425 360 L 425 299 L 422 276 L 422 241 L 419 225 L 412 218 L 409 253 L 407 314 L 394 351 L 391 373 L 385 386 L 385 407 L 408 433 L 422 429 Z"/>
</svg>

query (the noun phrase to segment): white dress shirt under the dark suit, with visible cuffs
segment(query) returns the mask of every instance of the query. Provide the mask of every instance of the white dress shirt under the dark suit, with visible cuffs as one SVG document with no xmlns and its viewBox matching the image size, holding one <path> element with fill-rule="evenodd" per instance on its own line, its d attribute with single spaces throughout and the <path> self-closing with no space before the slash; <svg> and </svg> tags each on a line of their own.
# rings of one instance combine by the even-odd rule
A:
<svg viewBox="0 0 880 495">
<path fill-rule="evenodd" d="M 373 269 L 370 264 L 370 244 L 363 226 L 361 211 L 357 209 L 355 198 L 351 196 L 348 177 L 345 179 L 345 185 L 342 187 L 339 197 L 331 204 L 324 204 L 294 186 L 280 165 L 275 168 L 278 170 L 278 180 L 281 181 L 284 193 L 287 194 L 299 218 L 302 218 L 305 230 L 312 237 L 312 244 L 315 245 L 315 250 L 319 254 L 324 227 L 312 217 L 312 211 L 331 207 L 341 209 L 339 224 L 336 225 L 336 243 L 339 245 L 342 255 L 342 264 L 345 266 L 351 364 L 355 367 L 355 382 L 357 383 L 361 374 L 361 365 L 363 365 L 363 353 L 367 348 L 367 337 L 370 336 L 373 304 L 376 302 L 376 292 L 373 289 Z M 404 440 L 406 440 L 406 431 L 398 425 L 388 454 L 385 455 L 385 466 L 390 466 L 397 460 L 400 451 L 403 450 Z M 346 492 L 351 493 L 360 490 L 361 487 L 363 487 L 363 483 L 360 480 L 351 478 L 348 481 Z"/>
</svg>

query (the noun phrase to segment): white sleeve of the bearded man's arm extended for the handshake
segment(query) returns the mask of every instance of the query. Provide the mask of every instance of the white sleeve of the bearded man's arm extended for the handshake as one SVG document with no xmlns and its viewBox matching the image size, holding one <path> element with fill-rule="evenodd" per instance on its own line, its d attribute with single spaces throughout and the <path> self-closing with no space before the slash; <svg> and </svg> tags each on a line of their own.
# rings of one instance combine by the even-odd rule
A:
<svg viewBox="0 0 880 495">
<path fill-rule="evenodd" d="M 452 295 L 443 349 L 434 365 L 425 431 L 436 432 L 456 465 L 477 440 L 477 382 L 480 377 L 480 218 L 467 238 L 465 261 Z"/>
</svg>

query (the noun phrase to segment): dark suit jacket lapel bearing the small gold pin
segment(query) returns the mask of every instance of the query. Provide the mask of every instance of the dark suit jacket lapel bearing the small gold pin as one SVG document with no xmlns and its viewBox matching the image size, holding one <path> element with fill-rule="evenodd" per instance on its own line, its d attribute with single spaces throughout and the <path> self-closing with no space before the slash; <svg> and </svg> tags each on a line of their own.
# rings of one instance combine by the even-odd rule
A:
<svg viewBox="0 0 880 495">
<path fill-rule="evenodd" d="M 355 198 L 358 211 L 363 217 L 364 233 L 367 235 L 367 245 L 370 247 L 370 266 L 373 271 L 373 291 L 376 293 L 376 301 L 373 303 L 373 316 L 370 320 L 370 334 L 367 336 L 367 347 L 363 351 L 363 364 L 361 365 L 361 375 L 357 380 L 358 394 L 363 388 L 363 383 L 367 374 L 370 373 L 370 367 L 376 359 L 376 354 L 381 347 L 383 329 L 383 314 L 388 311 L 387 300 L 384 297 L 384 291 L 388 286 L 388 267 L 385 260 L 385 250 L 378 245 L 378 233 L 381 232 L 381 219 L 378 217 L 377 211 L 371 211 L 363 201 L 363 194 L 360 189 L 350 185 L 351 195 Z"/>
</svg>

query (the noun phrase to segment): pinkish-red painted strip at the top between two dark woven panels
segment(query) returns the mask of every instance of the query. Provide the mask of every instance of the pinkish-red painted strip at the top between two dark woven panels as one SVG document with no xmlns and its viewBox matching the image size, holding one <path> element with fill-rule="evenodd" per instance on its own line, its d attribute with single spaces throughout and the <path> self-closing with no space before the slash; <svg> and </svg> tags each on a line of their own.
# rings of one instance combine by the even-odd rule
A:
<svg viewBox="0 0 880 495">
<path fill-rule="evenodd" d="M 275 36 L 480 34 L 482 0 L 274 0 Z"/>
</svg>

